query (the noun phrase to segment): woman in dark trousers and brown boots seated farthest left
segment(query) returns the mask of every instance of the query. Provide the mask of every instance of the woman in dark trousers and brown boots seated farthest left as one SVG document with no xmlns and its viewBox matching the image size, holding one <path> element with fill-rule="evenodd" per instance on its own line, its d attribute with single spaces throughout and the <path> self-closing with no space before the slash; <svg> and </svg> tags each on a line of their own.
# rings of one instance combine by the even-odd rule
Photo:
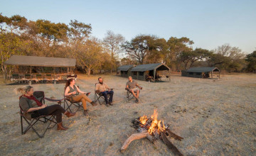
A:
<svg viewBox="0 0 256 156">
<path fill-rule="evenodd" d="M 58 105 L 47 106 L 42 104 L 35 96 L 33 96 L 33 87 L 26 86 L 16 89 L 17 92 L 22 94 L 19 104 L 23 111 L 25 111 L 24 116 L 31 120 L 31 118 L 37 118 L 38 116 L 55 115 L 57 121 L 57 130 L 67 130 L 62 124 L 62 113 L 64 113 L 68 118 L 70 116 L 75 116 L 75 113 L 70 113 L 65 111 L 65 109 Z"/>
</svg>

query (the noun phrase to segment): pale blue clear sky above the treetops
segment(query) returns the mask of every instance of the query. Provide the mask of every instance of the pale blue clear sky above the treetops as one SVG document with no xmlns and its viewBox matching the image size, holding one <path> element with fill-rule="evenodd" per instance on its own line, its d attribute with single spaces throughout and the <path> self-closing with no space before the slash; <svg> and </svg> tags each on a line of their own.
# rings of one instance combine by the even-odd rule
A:
<svg viewBox="0 0 256 156">
<path fill-rule="evenodd" d="M 246 54 L 256 50 L 256 0 L 0 0 L 0 13 L 54 23 L 78 20 L 102 39 L 107 30 L 131 40 L 136 35 L 193 40 L 193 48 L 230 44 Z"/>
</svg>

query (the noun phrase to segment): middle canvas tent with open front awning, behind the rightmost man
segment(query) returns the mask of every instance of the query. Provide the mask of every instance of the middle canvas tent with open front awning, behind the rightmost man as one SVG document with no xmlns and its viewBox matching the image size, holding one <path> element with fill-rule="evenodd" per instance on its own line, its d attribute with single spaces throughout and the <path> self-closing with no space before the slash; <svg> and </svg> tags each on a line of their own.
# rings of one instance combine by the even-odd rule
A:
<svg viewBox="0 0 256 156">
<path fill-rule="evenodd" d="M 164 65 L 163 63 L 154 63 L 154 64 L 146 64 L 146 65 L 137 65 L 132 68 L 132 78 L 139 80 L 147 80 L 148 77 L 151 77 L 153 80 L 157 80 L 160 78 L 159 72 L 166 71 L 166 73 L 170 73 L 170 68 Z"/>
</svg>

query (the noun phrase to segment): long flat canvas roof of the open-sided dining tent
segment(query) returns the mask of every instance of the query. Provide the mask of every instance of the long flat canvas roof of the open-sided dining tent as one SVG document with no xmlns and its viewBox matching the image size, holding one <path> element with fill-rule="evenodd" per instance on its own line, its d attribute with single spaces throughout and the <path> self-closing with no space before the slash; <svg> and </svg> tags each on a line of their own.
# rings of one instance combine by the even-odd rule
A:
<svg viewBox="0 0 256 156">
<path fill-rule="evenodd" d="M 37 57 L 13 55 L 4 62 L 5 65 L 42 66 L 42 67 L 75 67 L 76 60 L 60 57 Z"/>
</svg>

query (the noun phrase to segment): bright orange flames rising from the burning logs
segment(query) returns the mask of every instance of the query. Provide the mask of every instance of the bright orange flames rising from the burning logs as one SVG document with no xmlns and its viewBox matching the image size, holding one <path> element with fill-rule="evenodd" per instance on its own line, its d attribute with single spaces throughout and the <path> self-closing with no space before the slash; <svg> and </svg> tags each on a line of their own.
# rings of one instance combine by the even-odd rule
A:
<svg viewBox="0 0 256 156">
<path fill-rule="evenodd" d="M 147 118 L 147 116 L 142 116 L 139 118 L 139 121 L 145 125 L 146 121 L 148 121 L 149 118 Z M 148 129 L 148 132 L 150 135 L 158 133 L 160 134 L 162 131 L 166 130 L 165 126 L 164 126 L 164 120 L 163 121 L 158 121 L 157 120 L 157 110 L 154 110 L 154 114 L 153 116 L 151 116 L 151 126 Z"/>
</svg>

